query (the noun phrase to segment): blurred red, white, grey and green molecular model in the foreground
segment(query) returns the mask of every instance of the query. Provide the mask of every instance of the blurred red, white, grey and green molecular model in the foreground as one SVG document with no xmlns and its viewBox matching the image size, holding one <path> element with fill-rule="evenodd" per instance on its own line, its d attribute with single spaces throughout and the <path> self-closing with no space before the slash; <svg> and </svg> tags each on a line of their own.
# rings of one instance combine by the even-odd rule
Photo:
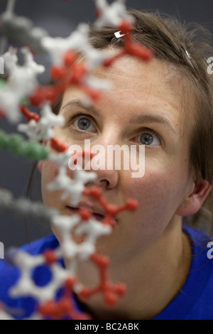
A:
<svg viewBox="0 0 213 334">
<path fill-rule="evenodd" d="M 77 205 L 82 195 L 96 200 L 102 206 L 104 219 L 96 220 L 86 209 L 79 209 L 72 216 L 60 215 L 58 210 L 46 209 L 42 203 L 35 203 L 27 198 L 13 198 L 10 190 L 0 189 L 0 208 L 9 208 L 24 217 L 38 217 L 51 227 L 57 227 L 62 235 L 62 242 L 57 249 L 48 249 L 43 254 L 31 255 L 18 249 L 6 254 L 5 261 L 16 266 L 20 271 L 18 281 L 9 289 L 11 298 L 31 296 L 37 307 L 31 319 L 89 319 L 86 314 L 77 311 L 75 295 L 85 300 L 94 293 L 102 293 L 104 303 L 114 306 L 118 298 L 126 291 L 122 283 L 113 284 L 107 276 L 110 259 L 104 254 L 97 254 L 95 244 L 103 235 L 113 232 L 116 215 L 124 210 L 133 212 L 137 203 L 126 200 L 117 207 L 107 203 L 98 187 L 87 188 L 85 185 L 96 178 L 93 171 L 73 168 L 73 178 L 67 176 L 70 158 L 66 143 L 54 138 L 54 126 L 62 126 L 64 119 L 55 115 L 51 105 L 62 95 L 67 87 L 78 87 L 84 92 L 87 103 L 94 102 L 107 89 L 109 82 L 98 80 L 92 75 L 97 65 L 110 66 L 123 55 L 131 55 L 141 60 L 149 60 L 152 53 L 147 48 L 136 44 L 131 39 L 133 19 L 126 12 L 124 0 L 108 4 L 107 0 L 94 0 L 96 4 L 97 28 L 114 27 L 124 38 L 124 46 L 116 57 L 109 58 L 103 50 L 89 46 L 89 26 L 80 23 L 75 32 L 67 38 L 51 38 L 43 28 L 33 27 L 31 20 L 14 14 L 14 0 L 9 0 L 6 11 L 0 16 L 1 57 L 4 58 L 6 79 L 0 85 L 0 118 L 4 117 L 17 126 L 16 134 L 8 134 L 0 129 L 0 149 L 9 150 L 16 156 L 23 156 L 31 161 L 50 160 L 55 163 L 58 173 L 48 185 L 48 190 L 61 190 L 62 198 L 70 198 L 70 206 Z M 6 48 L 6 42 L 10 46 Z M 23 64 L 18 62 L 18 50 L 23 55 Z M 51 59 L 50 80 L 53 85 L 40 85 L 38 76 L 45 71 L 43 65 L 35 63 L 34 53 L 47 53 Z M 77 62 L 78 54 L 83 61 Z M 36 108 L 39 112 L 31 112 Z M 23 122 L 23 118 L 26 122 Z M 28 139 L 25 139 L 24 134 Z M 49 146 L 41 143 L 49 142 Z M 87 154 L 88 152 L 84 152 Z M 77 243 L 71 238 L 72 232 L 82 236 Z M 63 258 L 69 259 L 69 266 L 62 265 Z M 91 261 L 99 271 L 99 284 L 89 289 L 81 284 L 76 274 L 77 262 Z M 45 286 L 38 286 L 33 281 L 32 271 L 39 266 L 48 266 L 51 279 Z M 62 289 L 60 297 L 57 297 Z M 128 289 L 128 287 L 127 287 Z M 1 319 L 13 319 L 13 312 L 1 303 Z"/>
</svg>

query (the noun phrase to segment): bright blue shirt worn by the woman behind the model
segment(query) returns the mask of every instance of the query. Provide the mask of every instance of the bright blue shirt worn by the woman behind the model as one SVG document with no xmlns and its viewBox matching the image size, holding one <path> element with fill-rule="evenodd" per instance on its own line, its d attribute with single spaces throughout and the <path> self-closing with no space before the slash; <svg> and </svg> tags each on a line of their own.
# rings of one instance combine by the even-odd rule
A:
<svg viewBox="0 0 213 334">
<path fill-rule="evenodd" d="M 203 232 L 184 227 L 192 243 L 192 262 L 190 272 L 181 291 L 168 306 L 153 320 L 213 320 L 213 259 L 208 259 L 208 236 Z M 40 254 L 46 249 L 58 247 L 54 235 L 44 237 L 21 249 L 30 254 Z M 61 262 L 62 263 L 62 262 Z M 63 265 L 63 263 L 62 263 Z M 15 318 L 26 318 L 33 313 L 35 301 L 31 297 L 11 298 L 9 288 L 16 283 L 19 276 L 17 268 L 0 260 L 0 300 L 9 308 L 18 308 L 23 313 L 15 313 Z M 44 286 L 50 279 L 47 267 L 35 269 L 35 283 Z M 80 308 L 77 306 L 77 308 Z"/>
</svg>

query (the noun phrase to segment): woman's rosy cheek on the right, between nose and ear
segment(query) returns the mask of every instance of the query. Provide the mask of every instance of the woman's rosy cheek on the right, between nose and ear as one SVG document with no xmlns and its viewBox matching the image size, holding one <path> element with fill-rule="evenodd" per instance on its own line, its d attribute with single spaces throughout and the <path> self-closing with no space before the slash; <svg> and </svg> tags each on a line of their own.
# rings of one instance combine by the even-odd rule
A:
<svg viewBox="0 0 213 334">
<path fill-rule="evenodd" d="M 158 205 L 160 209 L 161 205 L 168 204 L 176 210 L 185 198 L 190 180 L 184 156 L 185 152 L 159 158 L 147 154 L 144 176 L 129 177 L 128 194 L 137 198 L 141 205 Z"/>
</svg>

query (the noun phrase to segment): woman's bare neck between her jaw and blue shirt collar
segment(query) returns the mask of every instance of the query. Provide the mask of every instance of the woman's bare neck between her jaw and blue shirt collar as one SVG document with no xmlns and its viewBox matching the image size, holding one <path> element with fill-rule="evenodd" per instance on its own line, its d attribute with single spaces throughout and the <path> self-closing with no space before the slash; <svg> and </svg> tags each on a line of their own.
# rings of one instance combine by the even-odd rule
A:
<svg viewBox="0 0 213 334">
<path fill-rule="evenodd" d="M 127 263 L 111 262 L 111 281 L 122 281 L 126 294 L 113 308 L 104 306 L 102 296 L 92 296 L 84 304 L 94 319 L 152 319 L 178 294 L 190 268 L 191 247 L 181 222 L 169 225 L 146 249 Z M 82 269 L 85 268 L 85 269 Z M 84 264 L 80 277 L 91 268 Z M 93 279 L 92 279 L 93 280 Z M 85 284 L 87 284 L 85 282 Z"/>
</svg>

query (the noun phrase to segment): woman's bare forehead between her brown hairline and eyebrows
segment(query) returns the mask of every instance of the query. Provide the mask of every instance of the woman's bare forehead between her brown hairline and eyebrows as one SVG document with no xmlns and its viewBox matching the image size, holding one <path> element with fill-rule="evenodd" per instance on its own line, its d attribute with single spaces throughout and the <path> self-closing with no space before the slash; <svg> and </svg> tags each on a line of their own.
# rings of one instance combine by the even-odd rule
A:
<svg viewBox="0 0 213 334">
<path fill-rule="evenodd" d="M 122 109 L 126 119 L 134 112 L 163 114 L 175 127 L 183 129 L 187 109 L 185 87 L 178 72 L 168 64 L 156 59 L 145 63 L 126 56 L 109 68 L 98 68 L 93 75 L 111 82 L 110 90 L 95 102 L 97 109 L 102 112 Z M 62 106 L 81 95 L 79 90 L 67 90 Z"/>
</svg>

